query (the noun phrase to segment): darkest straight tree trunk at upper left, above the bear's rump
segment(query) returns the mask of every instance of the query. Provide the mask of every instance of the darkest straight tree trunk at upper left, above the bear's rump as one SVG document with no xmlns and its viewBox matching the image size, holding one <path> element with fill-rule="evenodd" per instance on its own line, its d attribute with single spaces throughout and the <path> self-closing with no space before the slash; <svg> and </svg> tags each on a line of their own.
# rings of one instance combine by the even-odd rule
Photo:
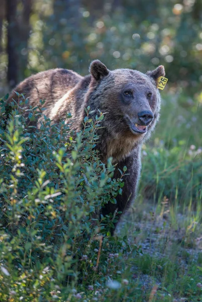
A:
<svg viewBox="0 0 202 302">
<path fill-rule="evenodd" d="M 10 88 L 13 88 L 18 82 L 18 57 L 17 57 L 17 0 L 6 1 L 6 18 L 8 21 L 8 42 L 7 42 L 7 54 L 8 54 L 8 73 L 7 80 Z"/>
</svg>

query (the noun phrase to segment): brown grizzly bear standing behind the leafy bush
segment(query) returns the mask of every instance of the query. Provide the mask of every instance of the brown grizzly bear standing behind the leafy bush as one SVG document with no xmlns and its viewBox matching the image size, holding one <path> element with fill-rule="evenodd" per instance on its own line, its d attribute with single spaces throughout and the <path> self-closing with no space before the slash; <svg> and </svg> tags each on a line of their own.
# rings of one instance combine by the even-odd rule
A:
<svg viewBox="0 0 202 302">
<path fill-rule="evenodd" d="M 141 147 L 159 119 L 160 93 L 157 79 L 164 77 L 161 65 L 146 74 L 133 69 L 109 70 L 99 60 L 90 64 L 90 74 L 82 77 L 67 69 L 42 71 L 24 80 L 11 93 L 8 102 L 16 98 L 16 93 L 29 97 L 29 104 L 39 106 L 45 100 L 44 115 L 53 123 L 60 120 L 69 122 L 67 113 L 72 115 L 72 128 L 79 130 L 90 106 L 92 118 L 100 110 L 105 114 L 102 128 L 98 130 L 99 142 L 96 148 L 100 158 L 106 163 L 109 157 L 116 164 L 114 178 L 127 167 L 122 195 L 116 197 L 116 204 L 108 203 L 102 214 L 122 213 L 136 195 L 141 172 Z M 39 119 L 37 127 L 40 128 Z"/>
</svg>

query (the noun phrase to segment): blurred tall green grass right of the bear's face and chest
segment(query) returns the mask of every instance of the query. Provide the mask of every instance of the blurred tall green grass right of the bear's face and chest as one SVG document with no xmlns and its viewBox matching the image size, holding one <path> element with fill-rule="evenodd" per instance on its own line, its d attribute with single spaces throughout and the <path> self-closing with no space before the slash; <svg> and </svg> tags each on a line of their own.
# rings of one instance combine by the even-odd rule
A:
<svg viewBox="0 0 202 302">
<path fill-rule="evenodd" d="M 184 95 L 165 96 L 153 140 L 143 146 L 140 198 L 201 202 L 202 107 L 199 98 L 189 102 Z"/>
</svg>

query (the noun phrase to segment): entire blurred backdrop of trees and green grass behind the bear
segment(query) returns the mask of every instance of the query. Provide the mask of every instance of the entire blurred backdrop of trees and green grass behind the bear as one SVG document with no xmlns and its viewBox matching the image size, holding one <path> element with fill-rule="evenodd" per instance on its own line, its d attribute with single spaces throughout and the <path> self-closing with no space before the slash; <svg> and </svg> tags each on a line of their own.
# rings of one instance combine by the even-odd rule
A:
<svg viewBox="0 0 202 302">
<path fill-rule="evenodd" d="M 85 75 L 165 65 L 161 119 L 143 146 L 140 196 L 186 204 L 202 181 L 201 0 L 0 0 L 0 94 L 32 73 L 63 67 Z M 177 192 L 177 193 L 176 193 Z"/>
</svg>

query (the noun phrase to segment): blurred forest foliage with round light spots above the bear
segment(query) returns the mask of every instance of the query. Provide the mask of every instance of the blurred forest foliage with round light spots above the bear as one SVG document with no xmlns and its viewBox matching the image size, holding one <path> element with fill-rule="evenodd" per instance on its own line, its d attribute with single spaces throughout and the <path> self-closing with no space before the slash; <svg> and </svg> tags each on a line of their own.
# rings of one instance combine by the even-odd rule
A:
<svg viewBox="0 0 202 302">
<path fill-rule="evenodd" d="M 21 14 L 19 4 L 19 23 Z M 89 62 L 97 58 L 111 69 L 130 67 L 143 72 L 164 64 L 170 89 L 186 89 L 193 94 L 202 83 L 201 24 L 200 0 L 105 0 L 101 4 L 92 0 L 36 0 L 32 2 L 27 48 L 20 33 L 16 42 L 18 81 L 55 67 L 86 74 Z M 7 72 L 6 28 L 5 22 L 2 83 Z M 27 66 L 20 63 L 24 56 L 28 56 Z"/>
</svg>

